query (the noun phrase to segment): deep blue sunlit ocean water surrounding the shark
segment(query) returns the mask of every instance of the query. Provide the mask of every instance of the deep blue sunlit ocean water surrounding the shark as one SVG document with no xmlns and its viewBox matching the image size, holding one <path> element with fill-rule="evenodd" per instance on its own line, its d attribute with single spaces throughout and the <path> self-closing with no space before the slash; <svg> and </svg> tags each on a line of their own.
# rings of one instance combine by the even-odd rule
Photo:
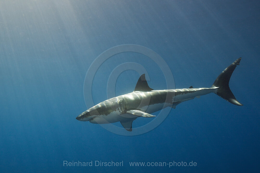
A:
<svg viewBox="0 0 260 173">
<path fill-rule="evenodd" d="M 1 1 L 0 172 L 259 172 L 259 20 L 259 1 L 246 0 Z M 176 88 L 210 87 L 242 57 L 230 88 L 244 106 L 208 94 L 181 103 L 157 128 L 138 136 L 77 121 L 89 108 L 83 94 L 88 68 L 122 44 L 158 53 Z M 151 88 L 166 89 L 164 74 L 150 58 L 122 53 L 105 61 L 89 82 L 95 104 L 107 99 L 109 74 L 125 62 L 141 64 Z M 121 73 L 116 95 L 132 92 L 138 78 L 133 70 Z M 147 120 L 138 118 L 133 128 L 142 121 Z M 181 161 L 197 165 L 129 165 Z"/>
</svg>

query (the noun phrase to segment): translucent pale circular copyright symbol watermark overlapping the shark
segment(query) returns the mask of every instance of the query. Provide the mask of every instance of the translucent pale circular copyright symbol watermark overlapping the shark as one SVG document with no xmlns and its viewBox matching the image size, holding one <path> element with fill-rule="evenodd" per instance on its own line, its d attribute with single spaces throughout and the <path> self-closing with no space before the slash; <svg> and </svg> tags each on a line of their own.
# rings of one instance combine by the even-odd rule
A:
<svg viewBox="0 0 260 173">
<path fill-rule="evenodd" d="M 93 95 L 92 95 L 92 84 L 95 77 L 95 74 L 99 67 L 109 58 L 113 57 L 116 54 L 119 53 L 125 53 L 125 52 L 135 52 L 143 54 L 149 58 L 151 58 L 161 69 L 162 73 L 164 74 L 165 80 L 166 80 L 166 89 L 175 89 L 175 82 L 173 78 L 173 74 L 170 70 L 170 67 L 167 65 L 167 63 L 162 59 L 159 54 L 152 51 L 151 49 L 148 49 L 147 47 L 140 46 L 140 45 L 134 45 L 134 44 L 124 44 L 124 45 L 118 45 L 115 47 L 112 47 L 105 52 L 101 53 L 90 65 L 88 68 L 88 71 L 86 73 L 86 77 L 84 80 L 84 87 L 83 87 L 83 93 L 84 93 L 84 100 L 86 103 L 86 106 L 88 108 L 91 108 L 95 106 L 93 101 Z M 115 97 L 115 86 L 116 81 L 119 77 L 119 75 L 127 70 L 134 70 L 138 72 L 139 75 L 146 74 L 146 80 L 149 81 L 149 74 L 142 66 L 141 64 L 134 63 L 134 62 L 125 62 L 113 69 L 113 71 L 110 73 L 108 81 L 107 81 L 107 98 L 113 98 Z M 138 79 L 136 79 L 137 82 Z M 168 96 L 168 94 L 167 94 Z M 166 98 L 167 98 L 166 96 Z M 133 100 L 134 101 L 134 100 Z M 147 102 L 147 101 L 146 101 Z M 124 136 L 135 136 L 147 133 L 157 126 L 161 124 L 167 115 L 170 113 L 171 107 L 166 107 L 162 109 L 159 114 L 156 117 L 152 117 L 152 121 L 148 122 L 147 124 L 135 127 L 134 121 L 132 124 L 132 132 L 129 132 L 125 130 L 123 127 L 115 126 L 113 123 L 107 123 L 107 124 L 100 124 L 103 128 L 108 130 L 109 132 L 118 134 L 118 135 L 124 135 Z M 109 116 L 109 115 L 107 115 Z M 122 117 L 127 117 L 126 115 L 121 115 Z"/>
</svg>

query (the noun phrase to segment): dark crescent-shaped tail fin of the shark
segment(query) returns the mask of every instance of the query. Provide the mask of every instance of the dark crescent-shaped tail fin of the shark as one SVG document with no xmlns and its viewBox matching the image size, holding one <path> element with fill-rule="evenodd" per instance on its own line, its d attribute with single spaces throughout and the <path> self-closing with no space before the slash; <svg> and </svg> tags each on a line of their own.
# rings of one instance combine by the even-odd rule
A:
<svg viewBox="0 0 260 173">
<path fill-rule="evenodd" d="M 215 80 L 214 84 L 211 86 L 213 87 L 218 87 L 216 94 L 223 99 L 229 101 L 230 103 L 238 106 L 243 106 L 241 103 L 239 103 L 234 94 L 231 92 L 229 88 L 229 80 L 230 77 L 235 70 L 236 66 L 239 65 L 241 58 L 238 58 L 233 62 L 230 66 L 228 66 L 220 75 L 217 77 Z"/>
</svg>

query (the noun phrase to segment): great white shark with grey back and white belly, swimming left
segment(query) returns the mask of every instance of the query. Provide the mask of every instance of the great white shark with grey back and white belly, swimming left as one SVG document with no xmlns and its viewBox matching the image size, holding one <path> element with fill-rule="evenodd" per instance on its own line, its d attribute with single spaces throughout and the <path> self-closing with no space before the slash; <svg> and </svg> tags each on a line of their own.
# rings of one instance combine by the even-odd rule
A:
<svg viewBox="0 0 260 173">
<path fill-rule="evenodd" d="M 234 105 L 242 106 L 229 88 L 230 77 L 240 60 L 241 58 L 238 58 L 220 73 L 210 88 L 191 86 L 183 89 L 153 90 L 148 86 L 145 74 L 142 74 L 133 92 L 102 101 L 77 116 L 76 119 L 95 124 L 120 121 L 126 130 L 132 131 L 132 123 L 138 117 L 155 117 L 152 113 L 166 107 L 175 108 L 181 102 L 209 93 L 215 93 Z"/>
</svg>

